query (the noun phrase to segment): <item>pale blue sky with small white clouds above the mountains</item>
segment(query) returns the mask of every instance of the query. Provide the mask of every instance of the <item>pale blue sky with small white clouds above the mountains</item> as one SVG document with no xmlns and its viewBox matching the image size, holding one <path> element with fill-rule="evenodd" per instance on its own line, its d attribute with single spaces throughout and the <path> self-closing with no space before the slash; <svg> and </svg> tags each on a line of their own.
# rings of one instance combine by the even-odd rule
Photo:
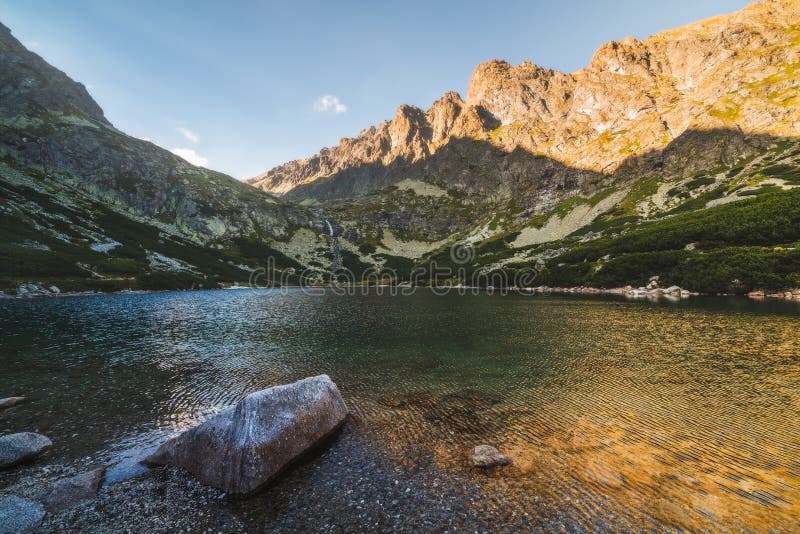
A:
<svg viewBox="0 0 800 534">
<path fill-rule="evenodd" d="M 608 40 L 747 3 L 0 0 L 0 21 L 83 82 L 121 130 L 246 178 L 401 103 L 466 96 L 481 61 L 573 71 Z"/>
</svg>

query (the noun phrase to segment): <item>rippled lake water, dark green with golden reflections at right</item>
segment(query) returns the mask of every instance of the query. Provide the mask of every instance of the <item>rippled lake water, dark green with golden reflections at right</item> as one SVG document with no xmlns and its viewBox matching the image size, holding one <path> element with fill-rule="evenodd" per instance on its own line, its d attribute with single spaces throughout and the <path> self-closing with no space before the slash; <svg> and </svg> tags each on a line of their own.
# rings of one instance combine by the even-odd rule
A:
<svg viewBox="0 0 800 534">
<path fill-rule="evenodd" d="M 0 397 L 34 399 L 0 431 L 47 434 L 47 461 L 115 462 L 248 392 L 327 373 L 353 420 L 232 513 L 261 528 L 297 510 L 297 526 L 322 528 L 325 506 L 331 528 L 404 528 L 421 510 L 432 529 L 793 531 L 799 327 L 797 304 L 743 299 L 0 301 Z M 513 465 L 475 470 L 480 443 Z"/>
</svg>

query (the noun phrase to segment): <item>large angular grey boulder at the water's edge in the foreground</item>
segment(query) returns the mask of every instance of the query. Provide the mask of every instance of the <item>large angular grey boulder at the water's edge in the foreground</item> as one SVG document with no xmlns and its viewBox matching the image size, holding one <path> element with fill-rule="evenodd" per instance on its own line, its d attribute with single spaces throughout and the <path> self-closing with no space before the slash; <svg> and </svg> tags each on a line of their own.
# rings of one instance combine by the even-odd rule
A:
<svg viewBox="0 0 800 534">
<path fill-rule="evenodd" d="M 235 406 L 169 440 L 143 460 L 182 467 L 201 482 L 246 494 L 332 434 L 347 406 L 327 376 L 251 393 Z"/>
</svg>

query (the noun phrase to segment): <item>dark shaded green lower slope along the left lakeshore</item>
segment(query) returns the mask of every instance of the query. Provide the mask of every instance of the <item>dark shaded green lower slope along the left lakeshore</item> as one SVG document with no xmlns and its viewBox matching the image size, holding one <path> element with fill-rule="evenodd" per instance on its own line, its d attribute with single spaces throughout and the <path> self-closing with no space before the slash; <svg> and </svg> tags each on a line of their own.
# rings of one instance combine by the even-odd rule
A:
<svg viewBox="0 0 800 534">
<path fill-rule="evenodd" d="M 79 190 L 45 184 L 31 170 L 15 175 L 0 178 L 2 290 L 24 282 L 62 291 L 213 288 L 247 282 L 250 267 L 263 267 L 268 257 L 278 268 L 302 268 L 260 239 L 200 245 Z M 117 245 L 107 252 L 91 248 L 110 242 Z M 157 265 L 159 257 L 174 265 Z"/>
</svg>

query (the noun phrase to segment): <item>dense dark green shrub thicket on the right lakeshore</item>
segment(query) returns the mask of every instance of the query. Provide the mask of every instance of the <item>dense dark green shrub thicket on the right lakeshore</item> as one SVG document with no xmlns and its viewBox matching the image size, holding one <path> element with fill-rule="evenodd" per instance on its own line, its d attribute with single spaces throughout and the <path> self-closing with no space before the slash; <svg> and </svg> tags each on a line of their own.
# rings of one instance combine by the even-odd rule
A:
<svg viewBox="0 0 800 534">
<path fill-rule="evenodd" d="M 707 292 L 797 287 L 798 240 L 800 190 L 775 191 L 578 244 L 550 260 L 538 283 L 639 286 L 659 276 Z"/>
</svg>

